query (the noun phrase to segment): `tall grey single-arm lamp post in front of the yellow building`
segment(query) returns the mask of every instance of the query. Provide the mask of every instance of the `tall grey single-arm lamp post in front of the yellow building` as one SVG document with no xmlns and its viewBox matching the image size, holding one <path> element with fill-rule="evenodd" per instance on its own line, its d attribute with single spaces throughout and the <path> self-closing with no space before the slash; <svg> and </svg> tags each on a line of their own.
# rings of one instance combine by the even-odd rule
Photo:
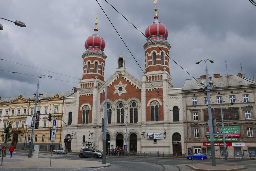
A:
<svg viewBox="0 0 256 171">
<path fill-rule="evenodd" d="M 28 150 L 28 157 L 32 157 L 32 149 L 33 149 L 33 136 L 34 136 L 34 130 L 35 130 L 35 119 L 36 119 L 36 107 L 37 107 L 37 97 L 38 97 L 38 89 L 39 89 L 39 79 L 42 78 L 42 76 L 47 76 L 47 75 L 40 75 L 38 78 L 38 83 L 37 83 L 37 88 L 36 88 L 36 98 L 35 98 L 35 109 L 34 109 L 34 114 L 33 114 L 33 123 L 32 123 L 32 130 L 31 130 L 31 139 L 29 143 L 29 150 Z M 48 75 L 47 77 L 52 78 L 51 75 Z M 35 95 L 35 94 L 34 94 Z M 43 95 L 43 93 L 39 93 L 39 95 Z"/>
</svg>

